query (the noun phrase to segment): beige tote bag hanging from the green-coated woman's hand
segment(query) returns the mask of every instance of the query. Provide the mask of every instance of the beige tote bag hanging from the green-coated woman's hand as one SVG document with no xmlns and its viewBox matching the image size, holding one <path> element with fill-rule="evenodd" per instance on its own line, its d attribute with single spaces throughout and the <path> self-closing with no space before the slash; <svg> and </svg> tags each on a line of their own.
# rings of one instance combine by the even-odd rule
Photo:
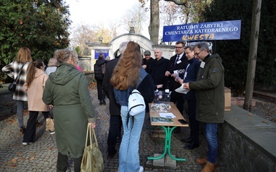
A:
<svg viewBox="0 0 276 172">
<path fill-rule="evenodd" d="M 88 141 L 89 136 L 89 141 Z M 93 143 L 92 139 L 95 139 Z M 87 146 L 87 144 L 89 144 Z M 89 171 L 89 172 L 103 172 L 103 155 L 101 155 L 101 151 L 98 147 L 97 138 L 95 135 L 95 130 L 91 129 L 90 123 L 87 126 L 86 133 L 86 147 L 83 152 L 83 158 L 81 161 L 81 171 Z"/>
</svg>

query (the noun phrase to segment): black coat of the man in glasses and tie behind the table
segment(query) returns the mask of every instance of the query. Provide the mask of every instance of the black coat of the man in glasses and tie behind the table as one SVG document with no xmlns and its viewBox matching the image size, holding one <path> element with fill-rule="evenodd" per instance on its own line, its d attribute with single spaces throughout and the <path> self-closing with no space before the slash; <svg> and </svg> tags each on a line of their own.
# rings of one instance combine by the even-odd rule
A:
<svg viewBox="0 0 276 172">
<path fill-rule="evenodd" d="M 169 71 L 170 74 L 173 74 L 175 70 L 179 70 L 179 69 L 184 69 L 185 71 L 186 66 L 188 65 L 188 58 L 185 56 L 185 54 L 183 54 L 180 58 L 181 63 L 175 64 L 176 58 L 177 58 L 177 54 L 175 54 L 175 56 L 172 56 L 170 58 L 170 64 L 168 65 L 168 69 L 167 69 L 167 71 Z M 179 74 L 179 78 L 183 78 L 183 77 L 184 77 L 184 72 Z M 172 98 L 183 98 L 183 94 L 175 92 L 175 89 L 177 89 L 180 86 L 181 84 L 176 82 L 175 78 L 171 76 L 168 77 L 168 89 L 170 89 L 170 91 L 172 92 L 170 94 Z"/>
</svg>

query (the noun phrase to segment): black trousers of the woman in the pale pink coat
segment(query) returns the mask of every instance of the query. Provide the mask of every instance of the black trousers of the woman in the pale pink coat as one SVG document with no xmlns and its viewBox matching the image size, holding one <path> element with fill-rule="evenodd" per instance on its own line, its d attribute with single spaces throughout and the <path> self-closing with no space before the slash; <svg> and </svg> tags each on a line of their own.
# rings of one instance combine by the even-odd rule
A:
<svg viewBox="0 0 276 172">
<path fill-rule="evenodd" d="M 49 111 L 41 111 L 44 118 L 50 116 Z M 29 111 L 29 119 L 27 122 L 26 131 L 23 136 L 23 142 L 35 142 L 36 127 L 35 122 L 37 121 L 37 116 L 39 116 L 39 111 Z"/>
</svg>

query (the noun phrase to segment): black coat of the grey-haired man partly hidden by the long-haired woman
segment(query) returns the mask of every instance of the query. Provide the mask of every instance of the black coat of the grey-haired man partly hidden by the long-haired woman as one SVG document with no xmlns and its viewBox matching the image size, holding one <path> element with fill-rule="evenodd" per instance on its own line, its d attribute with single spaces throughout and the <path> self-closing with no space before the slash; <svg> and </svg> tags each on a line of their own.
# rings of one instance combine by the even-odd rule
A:
<svg viewBox="0 0 276 172">
<path fill-rule="evenodd" d="M 111 61 L 108 61 L 108 63 L 106 63 L 106 73 L 103 76 L 103 91 L 106 92 L 106 96 L 109 99 L 109 111 L 110 115 L 112 116 L 121 115 L 121 106 L 117 103 L 115 99 L 113 86 L 110 83 L 113 70 L 118 63 L 120 56 L 121 55 L 119 55 L 118 58 L 112 59 Z"/>
</svg>

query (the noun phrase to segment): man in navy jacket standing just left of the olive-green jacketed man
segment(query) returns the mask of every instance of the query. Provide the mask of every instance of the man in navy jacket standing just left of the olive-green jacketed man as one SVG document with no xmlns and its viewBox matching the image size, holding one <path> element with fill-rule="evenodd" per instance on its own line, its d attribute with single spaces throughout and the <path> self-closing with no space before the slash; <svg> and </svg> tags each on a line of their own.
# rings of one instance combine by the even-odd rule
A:
<svg viewBox="0 0 276 172">
<path fill-rule="evenodd" d="M 188 45 L 184 48 L 186 57 L 188 58 L 188 65 L 185 70 L 184 79 L 180 79 L 179 83 L 189 83 L 197 80 L 197 71 L 199 69 L 200 62 L 197 58 L 194 58 L 194 51 L 192 45 Z M 196 119 L 197 99 L 195 97 L 195 91 L 190 90 L 184 94 L 184 100 L 188 102 L 188 116 L 190 121 L 190 137 L 184 138 L 181 141 L 189 142 L 184 148 L 195 149 L 199 147 L 199 122 Z"/>
</svg>

